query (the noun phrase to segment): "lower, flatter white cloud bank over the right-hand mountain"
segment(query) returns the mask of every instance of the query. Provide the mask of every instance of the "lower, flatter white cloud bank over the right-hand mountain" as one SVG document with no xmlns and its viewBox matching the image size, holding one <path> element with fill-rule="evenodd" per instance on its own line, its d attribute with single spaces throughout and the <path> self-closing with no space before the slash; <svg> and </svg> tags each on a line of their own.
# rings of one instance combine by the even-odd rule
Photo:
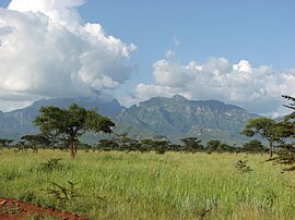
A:
<svg viewBox="0 0 295 220">
<path fill-rule="evenodd" d="M 189 99 L 217 99 L 252 112 L 268 113 L 281 107 L 282 95 L 295 96 L 294 70 L 253 68 L 247 60 L 231 63 L 225 58 L 211 58 L 205 63 L 184 64 L 166 56 L 153 64 L 153 77 L 154 84 L 135 86 L 133 102 L 180 94 Z"/>
</svg>

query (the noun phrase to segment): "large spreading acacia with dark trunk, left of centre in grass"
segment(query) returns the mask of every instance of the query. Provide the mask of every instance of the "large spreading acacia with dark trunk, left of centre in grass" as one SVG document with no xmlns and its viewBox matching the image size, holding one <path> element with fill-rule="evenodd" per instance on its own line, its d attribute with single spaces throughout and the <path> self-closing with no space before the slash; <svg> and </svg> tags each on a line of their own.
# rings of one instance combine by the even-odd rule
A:
<svg viewBox="0 0 295 220">
<path fill-rule="evenodd" d="M 46 136 L 60 136 L 66 139 L 71 157 L 76 154 L 75 142 L 79 136 L 85 132 L 111 133 L 111 127 L 115 126 L 110 119 L 98 114 L 95 109 L 85 110 L 76 103 L 72 103 L 69 109 L 42 107 L 34 124 L 39 126 L 40 133 Z"/>
</svg>

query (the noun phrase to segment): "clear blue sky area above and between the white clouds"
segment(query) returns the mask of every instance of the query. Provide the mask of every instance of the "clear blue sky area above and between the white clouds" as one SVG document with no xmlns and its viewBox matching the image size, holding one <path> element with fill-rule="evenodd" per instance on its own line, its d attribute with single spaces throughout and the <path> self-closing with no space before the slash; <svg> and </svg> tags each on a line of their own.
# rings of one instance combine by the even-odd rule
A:
<svg viewBox="0 0 295 220">
<path fill-rule="evenodd" d="M 86 21 L 99 22 L 107 33 L 138 45 L 143 64 L 162 58 L 168 49 L 184 61 L 226 57 L 248 59 L 255 65 L 293 68 L 295 63 L 292 0 L 88 0 L 80 12 Z"/>
</svg>

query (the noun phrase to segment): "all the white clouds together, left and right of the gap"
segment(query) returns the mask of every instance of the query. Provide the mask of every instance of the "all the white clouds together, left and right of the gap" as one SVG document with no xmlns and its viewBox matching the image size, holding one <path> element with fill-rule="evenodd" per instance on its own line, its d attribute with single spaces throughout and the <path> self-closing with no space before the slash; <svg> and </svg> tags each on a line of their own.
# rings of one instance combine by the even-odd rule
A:
<svg viewBox="0 0 295 220">
<path fill-rule="evenodd" d="M 98 23 L 85 23 L 78 12 L 83 0 L 12 0 L 0 8 L 0 109 L 25 107 L 40 98 L 111 93 L 133 71 L 126 64 L 133 44 L 107 35 Z M 179 39 L 173 37 L 175 46 Z M 180 44 L 181 45 L 181 44 Z M 153 64 L 153 84 L 139 83 L 125 105 L 153 96 L 184 95 L 189 99 L 219 99 L 252 112 L 274 111 L 281 95 L 295 96 L 295 70 L 252 66 L 211 58 L 204 63 L 177 60 L 166 51 Z"/>
</svg>

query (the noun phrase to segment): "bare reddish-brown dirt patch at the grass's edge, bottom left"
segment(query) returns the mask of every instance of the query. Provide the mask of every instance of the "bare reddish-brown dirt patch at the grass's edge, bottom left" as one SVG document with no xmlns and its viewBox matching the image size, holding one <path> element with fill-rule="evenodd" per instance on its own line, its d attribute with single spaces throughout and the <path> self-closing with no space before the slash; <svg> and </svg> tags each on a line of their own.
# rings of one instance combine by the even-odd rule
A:
<svg viewBox="0 0 295 220">
<path fill-rule="evenodd" d="M 56 217 L 62 220 L 88 220 L 88 217 L 84 213 L 70 213 L 68 211 L 43 208 L 26 201 L 0 197 L 0 220 L 22 220 L 30 216 L 34 216 L 36 219 Z"/>
</svg>

